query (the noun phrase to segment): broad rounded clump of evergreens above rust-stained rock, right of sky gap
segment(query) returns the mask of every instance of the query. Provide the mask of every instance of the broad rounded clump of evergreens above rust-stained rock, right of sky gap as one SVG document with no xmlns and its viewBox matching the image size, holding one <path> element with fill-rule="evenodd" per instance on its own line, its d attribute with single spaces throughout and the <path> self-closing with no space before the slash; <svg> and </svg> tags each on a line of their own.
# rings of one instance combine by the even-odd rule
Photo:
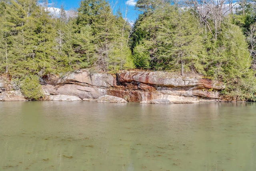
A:
<svg viewBox="0 0 256 171">
<path fill-rule="evenodd" d="M 140 15 L 131 42 L 135 66 L 203 73 L 203 39 L 198 27 L 190 11 L 170 4 Z"/>
</svg>

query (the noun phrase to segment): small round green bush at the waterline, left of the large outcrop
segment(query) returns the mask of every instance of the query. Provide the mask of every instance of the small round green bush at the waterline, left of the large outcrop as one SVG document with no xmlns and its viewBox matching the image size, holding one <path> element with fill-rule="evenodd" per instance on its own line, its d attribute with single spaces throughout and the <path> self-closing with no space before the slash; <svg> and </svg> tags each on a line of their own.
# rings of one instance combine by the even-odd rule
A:
<svg viewBox="0 0 256 171">
<path fill-rule="evenodd" d="M 43 97 L 41 85 L 35 75 L 25 76 L 20 83 L 20 90 L 29 100 L 38 100 Z"/>
</svg>

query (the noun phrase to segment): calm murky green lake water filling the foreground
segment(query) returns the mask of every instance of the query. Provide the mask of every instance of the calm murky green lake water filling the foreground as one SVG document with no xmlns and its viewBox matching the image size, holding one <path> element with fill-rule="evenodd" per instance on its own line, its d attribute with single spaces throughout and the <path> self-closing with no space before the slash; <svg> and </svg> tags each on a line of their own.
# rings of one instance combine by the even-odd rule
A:
<svg viewBox="0 0 256 171">
<path fill-rule="evenodd" d="M 255 171 L 256 103 L 0 102 L 0 170 Z"/>
</svg>

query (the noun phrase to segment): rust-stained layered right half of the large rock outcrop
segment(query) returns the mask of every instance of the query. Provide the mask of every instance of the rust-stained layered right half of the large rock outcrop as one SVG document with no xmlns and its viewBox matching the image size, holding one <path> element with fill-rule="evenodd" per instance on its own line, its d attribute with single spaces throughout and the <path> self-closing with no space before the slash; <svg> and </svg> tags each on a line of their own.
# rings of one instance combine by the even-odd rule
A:
<svg viewBox="0 0 256 171">
<path fill-rule="evenodd" d="M 199 75 L 177 76 L 169 72 L 123 72 L 117 77 L 118 87 L 108 94 L 127 101 L 166 99 L 171 103 L 196 103 L 201 99 L 220 99 L 224 85 Z"/>
</svg>

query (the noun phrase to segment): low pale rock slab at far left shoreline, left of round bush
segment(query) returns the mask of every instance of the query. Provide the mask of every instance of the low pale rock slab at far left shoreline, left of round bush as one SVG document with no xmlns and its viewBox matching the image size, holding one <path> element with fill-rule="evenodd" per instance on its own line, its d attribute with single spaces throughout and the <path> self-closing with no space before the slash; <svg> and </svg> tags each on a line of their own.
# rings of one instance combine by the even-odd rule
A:
<svg viewBox="0 0 256 171">
<path fill-rule="evenodd" d="M 20 90 L 15 90 L 0 93 L 0 101 L 26 101 L 26 99 Z"/>
</svg>

